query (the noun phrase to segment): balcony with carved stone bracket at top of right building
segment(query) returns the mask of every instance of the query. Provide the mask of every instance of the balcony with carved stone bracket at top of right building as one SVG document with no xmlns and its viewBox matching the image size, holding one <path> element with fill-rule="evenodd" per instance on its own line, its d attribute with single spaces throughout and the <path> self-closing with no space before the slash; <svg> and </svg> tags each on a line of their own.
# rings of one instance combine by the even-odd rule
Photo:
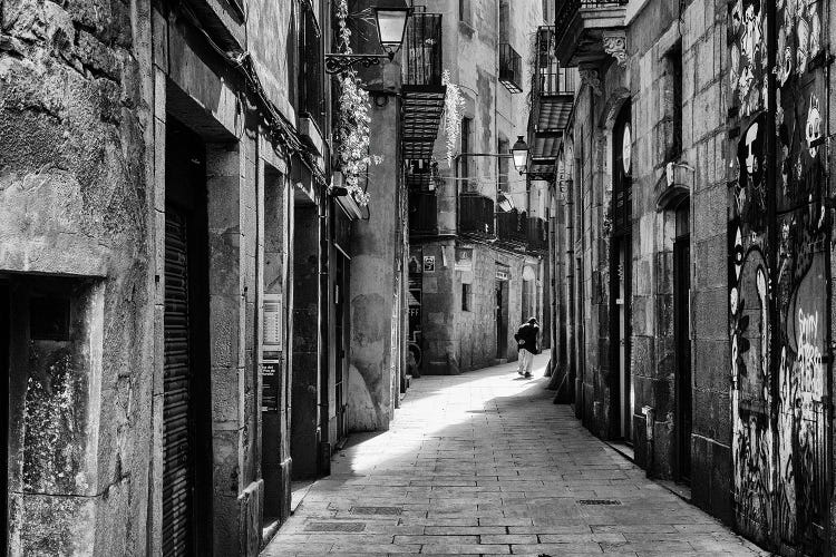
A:
<svg viewBox="0 0 836 557">
<path fill-rule="evenodd" d="M 610 55 L 623 63 L 626 4 L 628 0 L 557 0 L 555 53 L 561 63 L 597 65 Z"/>
</svg>

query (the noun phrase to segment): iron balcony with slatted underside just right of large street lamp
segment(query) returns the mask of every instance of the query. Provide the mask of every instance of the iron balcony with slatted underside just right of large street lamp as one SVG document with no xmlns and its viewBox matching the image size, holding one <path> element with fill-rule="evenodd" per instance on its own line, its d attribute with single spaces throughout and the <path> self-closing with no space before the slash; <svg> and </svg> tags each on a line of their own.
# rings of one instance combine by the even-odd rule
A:
<svg viewBox="0 0 836 557">
<path fill-rule="evenodd" d="M 444 111 L 441 14 L 414 13 L 404 36 L 404 157 L 430 159 Z"/>
</svg>

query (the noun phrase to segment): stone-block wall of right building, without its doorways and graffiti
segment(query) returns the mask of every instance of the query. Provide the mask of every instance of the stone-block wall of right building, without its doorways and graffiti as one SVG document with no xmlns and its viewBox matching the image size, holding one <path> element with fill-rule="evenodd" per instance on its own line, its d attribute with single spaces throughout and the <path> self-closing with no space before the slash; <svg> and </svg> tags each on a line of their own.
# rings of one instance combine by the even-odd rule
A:
<svg viewBox="0 0 836 557">
<path fill-rule="evenodd" d="M 732 458 L 727 323 L 728 251 L 726 136 L 727 2 L 694 0 L 680 7 L 649 1 L 628 10 L 629 58 L 581 68 L 564 149 L 572 164 L 570 190 L 558 198 L 555 244 L 565 252 L 555 266 L 556 291 L 568 321 L 567 372 L 576 372 L 579 417 L 603 438 L 619 438 L 618 381 L 611 362 L 618 323 L 610 309 L 612 242 L 612 124 L 632 107 L 631 373 L 634 385 L 635 461 L 649 475 L 679 478 L 679 442 L 691 448 L 693 501 L 731 520 Z M 681 141 L 672 60 L 681 60 Z M 692 432 L 678 439 L 675 345 L 675 204 L 665 205 L 667 164 L 690 207 L 690 315 Z M 681 207 L 681 205 L 680 205 Z M 561 223 L 560 221 L 564 222 Z M 574 261 L 573 261 L 574 260 Z M 580 274 L 579 274 L 580 272 Z M 574 300 L 573 300 L 574 299 Z M 565 315 L 565 317 L 564 317 Z M 647 407 L 650 412 L 643 412 Z M 648 420 L 652 419 L 652 423 Z"/>
</svg>

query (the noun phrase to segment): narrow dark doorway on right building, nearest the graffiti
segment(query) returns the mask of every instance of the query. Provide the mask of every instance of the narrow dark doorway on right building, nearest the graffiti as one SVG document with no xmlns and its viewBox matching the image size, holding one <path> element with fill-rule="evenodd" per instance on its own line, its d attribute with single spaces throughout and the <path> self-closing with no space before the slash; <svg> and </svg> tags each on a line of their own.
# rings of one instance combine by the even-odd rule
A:
<svg viewBox="0 0 836 557">
<path fill-rule="evenodd" d="M 677 365 L 677 461 L 679 479 L 691 478 L 691 236 L 690 207 L 686 201 L 677 211 L 677 238 L 673 242 L 673 334 Z"/>
</svg>

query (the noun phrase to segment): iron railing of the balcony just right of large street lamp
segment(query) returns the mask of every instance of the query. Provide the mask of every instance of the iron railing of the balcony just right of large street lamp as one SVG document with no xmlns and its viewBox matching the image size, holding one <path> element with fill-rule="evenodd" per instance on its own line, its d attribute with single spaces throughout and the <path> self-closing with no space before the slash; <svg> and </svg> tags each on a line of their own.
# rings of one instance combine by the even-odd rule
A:
<svg viewBox="0 0 836 557">
<path fill-rule="evenodd" d="M 441 87 L 441 14 L 414 13 L 404 37 L 404 85 Z"/>
</svg>

